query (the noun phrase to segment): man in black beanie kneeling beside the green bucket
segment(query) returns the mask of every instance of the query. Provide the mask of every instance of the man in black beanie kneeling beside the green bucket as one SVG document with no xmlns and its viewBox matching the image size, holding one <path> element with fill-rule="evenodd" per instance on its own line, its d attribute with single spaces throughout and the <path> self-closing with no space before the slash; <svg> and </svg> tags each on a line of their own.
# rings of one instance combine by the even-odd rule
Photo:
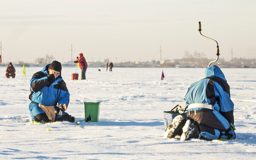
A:
<svg viewBox="0 0 256 160">
<path fill-rule="evenodd" d="M 65 112 L 70 94 L 61 77 L 61 70 L 61 63 L 53 61 L 32 76 L 29 111 L 33 123 L 75 122 L 75 117 Z"/>
</svg>

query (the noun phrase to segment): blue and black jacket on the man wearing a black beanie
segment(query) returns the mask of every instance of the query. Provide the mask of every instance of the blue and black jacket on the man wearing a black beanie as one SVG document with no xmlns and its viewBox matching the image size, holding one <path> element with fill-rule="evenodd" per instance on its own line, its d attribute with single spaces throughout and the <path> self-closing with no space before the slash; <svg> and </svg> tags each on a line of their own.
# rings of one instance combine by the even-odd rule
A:
<svg viewBox="0 0 256 160">
<path fill-rule="evenodd" d="M 41 71 L 36 72 L 30 80 L 29 99 L 45 106 L 69 104 L 69 91 L 66 83 L 59 75 L 53 82 L 48 81 L 48 67 L 46 65 Z"/>
</svg>

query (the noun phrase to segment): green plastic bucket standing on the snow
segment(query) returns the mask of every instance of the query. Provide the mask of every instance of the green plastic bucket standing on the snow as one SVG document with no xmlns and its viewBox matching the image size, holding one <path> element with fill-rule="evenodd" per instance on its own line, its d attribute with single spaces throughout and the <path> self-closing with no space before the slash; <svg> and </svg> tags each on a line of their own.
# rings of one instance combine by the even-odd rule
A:
<svg viewBox="0 0 256 160">
<path fill-rule="evenodd" d="M 91 116 L 89 122 L 98 122 L 99 121 L 99 114 L 100 114 L 100 103 L 101 102 L 85 102 L 85 120 L 87 117 Z"/>
</svg>

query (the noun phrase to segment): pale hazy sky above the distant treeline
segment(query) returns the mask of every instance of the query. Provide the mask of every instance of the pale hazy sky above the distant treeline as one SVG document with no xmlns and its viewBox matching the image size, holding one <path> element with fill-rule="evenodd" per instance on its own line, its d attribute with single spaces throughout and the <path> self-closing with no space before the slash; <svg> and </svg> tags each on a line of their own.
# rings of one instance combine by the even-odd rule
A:
<svg viewBox="0 0 256 160">
<path fill-rule="evenodd" d="M 60 62 L 83 53 L 113 63 L 182 58 L 255 58 L 255 0 L 0 0 L 4 63 Z M 160 55 L 161 46 L 161 55 Z M 231 54 L 233 49 L 233 55 Z"/>
</svg>

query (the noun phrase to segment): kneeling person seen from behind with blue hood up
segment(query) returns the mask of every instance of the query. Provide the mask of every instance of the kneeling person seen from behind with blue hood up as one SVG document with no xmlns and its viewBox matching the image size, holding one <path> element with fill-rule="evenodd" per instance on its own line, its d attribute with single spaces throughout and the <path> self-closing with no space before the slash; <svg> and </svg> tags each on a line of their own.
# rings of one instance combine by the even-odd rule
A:
<svg viewBox="0 0 256 160">
<path fill-rule="evenodd" d="M 206 78 L 193 83 L 185 95 L 187 118 L 181 115 L 173 119 L 165 136 L 180 140 L 192 138 L 204 140 L 235 139 L 234 103 L 223 72 L 213 65 L 205 70 Z"/>
</svg>

